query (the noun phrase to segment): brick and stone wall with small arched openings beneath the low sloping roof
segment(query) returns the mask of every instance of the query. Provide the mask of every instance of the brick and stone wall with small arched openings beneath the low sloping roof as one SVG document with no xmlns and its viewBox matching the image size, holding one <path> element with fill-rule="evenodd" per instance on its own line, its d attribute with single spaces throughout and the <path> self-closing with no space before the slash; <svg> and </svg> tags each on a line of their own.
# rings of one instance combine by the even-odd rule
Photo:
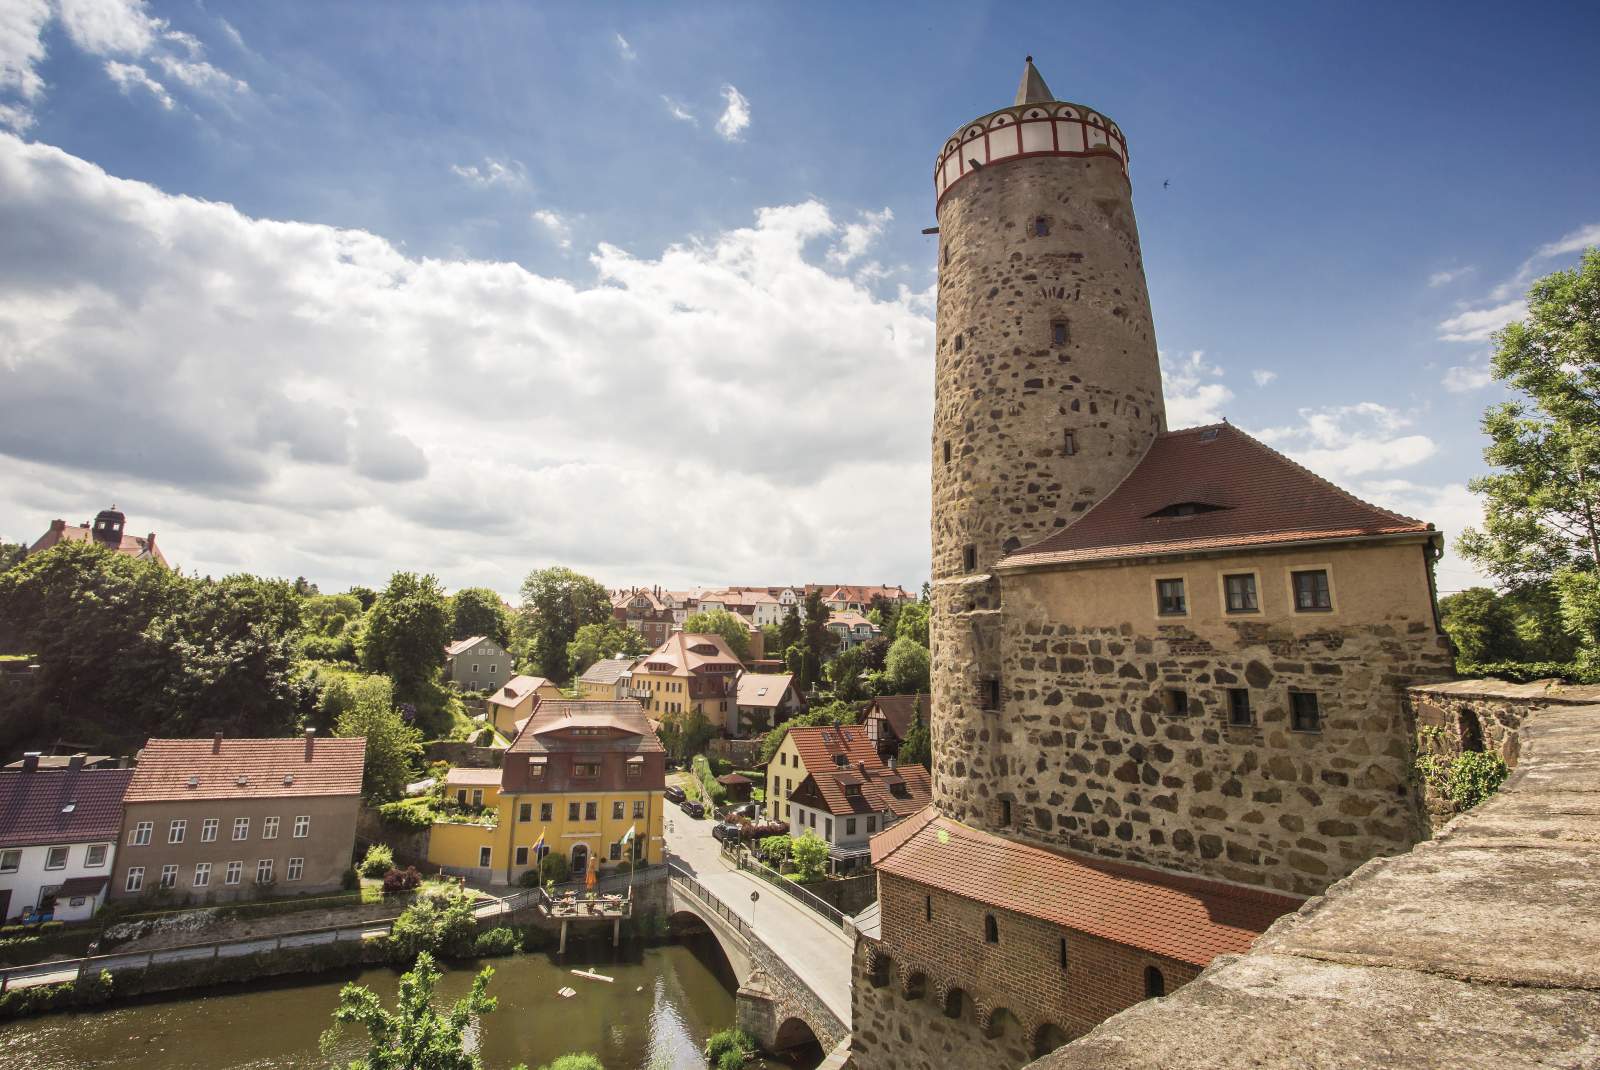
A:
<svg viewBox="0 0 1600 1070">
<path fill-rule="evenodd" d="M 1162 971 L 1168 992 L 1198 974 L 1189 963 L 947 892 L 931 892 L 930 920 L 926 888 L 888 873 L 878 880 L 882 932 L 858 940 L 853 964 L 858 1070 L 1021 1067 L 1141 1001 L 1147 966 Z M 986 915 L 997 920 L 995 944 L 984 939 Z"/>
</svg>

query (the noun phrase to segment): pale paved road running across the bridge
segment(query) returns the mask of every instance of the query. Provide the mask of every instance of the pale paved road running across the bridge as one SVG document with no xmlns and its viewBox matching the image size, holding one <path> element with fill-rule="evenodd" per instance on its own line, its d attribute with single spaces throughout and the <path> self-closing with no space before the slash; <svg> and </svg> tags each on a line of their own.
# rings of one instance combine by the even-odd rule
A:
<svg viewBox="0 0 1600 1070">
<path fill-rule="evenodd" d="M 667 851 L 678 865 L 694 873 L 694 880 L 750 921 L 762 940 L 805 977 L 848 1027 L 850 937 L 771 884 L 725 862 L 722 844 L 710 836 L 712 824 L 669 808 Z M 750 902 L 752 891 L 762 892 L 755 904 Z"/>
</svg>

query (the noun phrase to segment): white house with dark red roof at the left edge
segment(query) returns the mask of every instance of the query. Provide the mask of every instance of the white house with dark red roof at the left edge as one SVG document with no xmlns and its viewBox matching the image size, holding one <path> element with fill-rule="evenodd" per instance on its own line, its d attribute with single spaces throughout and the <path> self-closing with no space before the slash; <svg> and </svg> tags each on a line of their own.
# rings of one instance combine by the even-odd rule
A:
<svg viewBox="0 0 1600 1070">
<path fill-rule="evenodd" d="M 82 921 L 106 902 L 133 769 L 0 769 L 0 920 Z"/>
</svg>

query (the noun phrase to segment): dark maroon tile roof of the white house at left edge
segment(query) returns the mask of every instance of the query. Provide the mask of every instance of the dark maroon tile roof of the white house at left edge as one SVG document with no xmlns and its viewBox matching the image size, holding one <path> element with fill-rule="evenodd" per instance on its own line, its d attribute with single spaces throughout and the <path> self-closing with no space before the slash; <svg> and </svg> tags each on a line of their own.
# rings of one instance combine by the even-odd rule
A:
<svg viewBox="0 0 1600 1070">
<path fill-rule="evenodd" d="M 0 773 L 0 848 L 115 841 L 131 779 L 133 769 Z"/>
</svg>

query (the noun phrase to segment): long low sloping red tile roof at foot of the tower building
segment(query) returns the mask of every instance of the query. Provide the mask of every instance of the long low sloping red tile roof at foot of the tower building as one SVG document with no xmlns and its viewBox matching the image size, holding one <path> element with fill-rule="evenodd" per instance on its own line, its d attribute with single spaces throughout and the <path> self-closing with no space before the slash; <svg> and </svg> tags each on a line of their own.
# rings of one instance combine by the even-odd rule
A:
<svg viewBox="0 0 1600 1070">
<path fill-rule="evenodd" d="M 1045 851 L 931 806 L 872 838 L 872 865 L 1051 924 L 1205 966 L 1245 952 L 1301 899 L 1141 865 Z"/>
</svg>

